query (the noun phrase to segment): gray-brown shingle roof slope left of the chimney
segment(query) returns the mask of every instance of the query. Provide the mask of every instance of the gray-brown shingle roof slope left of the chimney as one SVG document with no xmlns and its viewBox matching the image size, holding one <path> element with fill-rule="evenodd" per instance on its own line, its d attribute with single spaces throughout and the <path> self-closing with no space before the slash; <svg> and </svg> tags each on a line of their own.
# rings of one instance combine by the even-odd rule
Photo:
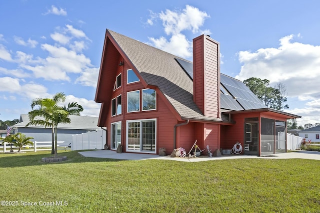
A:
<svg viewBox="0 0 320 213">
<path fill-rule="evenodd" d="M 145 82 L 157 86 L 182 118 L 219 120 L 202 115 L 193 102 L 193 82 L 174 59 L 180 57 L 111 30 L 108 32 Z"/>
</svg>

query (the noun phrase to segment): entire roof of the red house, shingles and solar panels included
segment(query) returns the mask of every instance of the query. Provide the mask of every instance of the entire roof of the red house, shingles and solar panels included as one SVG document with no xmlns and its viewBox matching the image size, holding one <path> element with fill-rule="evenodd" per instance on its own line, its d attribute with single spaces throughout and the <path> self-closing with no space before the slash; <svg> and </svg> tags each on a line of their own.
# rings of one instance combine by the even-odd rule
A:
<svg viewBox="0 0 320 213">
<path fill-rule="evenodd" d="M 221 120 L 204 116 L 194 103 L 192 62 L 106 29 L 101 64 L 106 61 L 105 57 L 112 57 L 111 55 L 106 56 L 107 50 L 110 49 L 108 46 L 110 42 L 120 52 L 122 57 L 131 63 L 132 68 L 140 74 L 142 77 L 141 83 L 147 87 L 158 87 L 181 119 L 228 121 L 228 118 L 223 114 L 221 115 Z M 108 63 L 106 66 L 110 66 L 111 62 L 109 61 Z M 100 69 L 103 69 L 101 67 Z M 113 80 L 114 79 L 112 79 L 112 81 Z M 106 114 L 101 114 L 102 108 L 104 108 L 103 110 L 105 111 L 109 108 L 108 100 L 106 100 L 107 97 L 102 97 L 104 94 L 103 91 L 105 91 L 103 84 L 106 84 L 105 81 L 103 81 L 102 84 L 102 81 L 100 70 L 95 96 L 95 101 L 102 103 L 99 122 L 106 118 Z M 271 110 L 266 108 L 243 82 L 224 74 L 220 74 L 220 82 L 222 88 L 226 89 L 228 93 L 221 93 L 220 96 L 220 108 L 222 112 L 239 111 L 243 113 L 243 110 L 263 109 L 263 112 Z M 112 82 L 109 83 L 112 84 Z M 283 113 L 279 110 L 272 109 L 271 111 L 289 115 L 290 118 L 299 118 L 299 116 Z"/>
</svg>

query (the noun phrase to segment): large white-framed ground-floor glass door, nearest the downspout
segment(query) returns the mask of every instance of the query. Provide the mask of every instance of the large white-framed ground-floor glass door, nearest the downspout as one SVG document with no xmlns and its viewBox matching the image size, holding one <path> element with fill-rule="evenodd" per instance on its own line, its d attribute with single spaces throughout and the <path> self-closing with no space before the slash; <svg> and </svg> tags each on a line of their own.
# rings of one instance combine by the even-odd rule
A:
<svg viewBox="0 0 320 213">
<path fill-rule="evenodd" d="M 155 153 L 156 119 L 126 121 L 126 150 Z"/>
</svg>

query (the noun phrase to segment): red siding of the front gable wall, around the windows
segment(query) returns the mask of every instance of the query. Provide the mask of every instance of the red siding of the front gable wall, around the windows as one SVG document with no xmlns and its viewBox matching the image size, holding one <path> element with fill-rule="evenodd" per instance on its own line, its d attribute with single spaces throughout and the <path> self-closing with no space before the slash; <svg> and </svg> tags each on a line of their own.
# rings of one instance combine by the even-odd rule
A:
<svg viewBox="0 0 320 213">
<path fill-rule="evenodd" d="M 123 61 L 123 58 L 120 58 L 119 61 Z M 111 99 L 121 94 L 122 96 L 122 114 L 111 117 L 111 107 L 109 107 L 107 113 L 107 144 L 110 147 L 111 140 L 111 123 L 121 121 L 122 129 L 121 129 L 121 144 L 123 147 L 123 152 L 125 152 L 126 147 L 126 121 L 127 120 L 140 120 L 140 119 L 151 119 L 156 118 L 157 124 L 157 132 L 156 132 L 156 153 L 158 153 L 159 148 L 165 148 L 166 153 L 170 154 L 173 150 L 173 128 L 174 125 L 177 124 L 177 119 L 165 105 L 162 99 L 162 96 L 158 94 L 157 88 L 156 90 L 156 110 L 151 111 L 141 111 L 141 103 L 140 99 L 140 112 L 130 112 L 127 113 L 126 110 L 126 93 L 129 91 L 140 90 L 140 98 L 141 98 L 141 90 L 145 89 L 141 82 L 135 82 L 131 84 L 126 84 L 126 70 L 130 69 L 127 63 L 124 62 L 124 66 L 118 66 L 116 76 L 121 73 L 122 74 L 122 83 L 121 87 L 112 92 Z M 115 81 L 115 79 L 114 79 Z M 113 82 L 114 82 L 113 81 Z"/>
</svg>

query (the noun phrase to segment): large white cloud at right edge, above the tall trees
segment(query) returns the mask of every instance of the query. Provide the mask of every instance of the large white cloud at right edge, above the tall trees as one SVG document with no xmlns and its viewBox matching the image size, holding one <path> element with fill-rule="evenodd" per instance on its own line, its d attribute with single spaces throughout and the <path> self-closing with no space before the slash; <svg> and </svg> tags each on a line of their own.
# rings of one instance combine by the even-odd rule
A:
<svg viewBox="0 0 320 213">
<path fill-rule="evenodd" d="M 243 64 L 236 78 L 249 77 L 268 79 L 270 85 L 281 82 L 286 85 L 288 96 L 318 95 L 320 76 L 320 46 L 291 42 L 293 35 L 279 39 L 278 48 L 261 48 L 255 52 L 239 51 L 238 59 Z"/>
</svg>

